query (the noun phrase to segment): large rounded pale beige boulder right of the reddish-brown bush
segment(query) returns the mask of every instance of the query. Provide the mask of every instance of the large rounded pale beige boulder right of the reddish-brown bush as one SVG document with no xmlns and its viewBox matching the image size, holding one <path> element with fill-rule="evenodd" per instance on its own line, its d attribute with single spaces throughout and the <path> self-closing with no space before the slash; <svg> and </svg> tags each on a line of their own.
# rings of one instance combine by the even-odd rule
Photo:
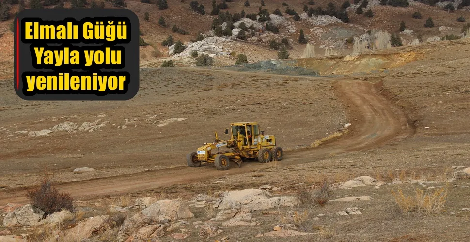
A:
<svg viewBox="0 0 470 242">
<path fill-rule="evenodd" d="M 177 219 L 194 217 L 194 214 L 189 211 L 182 199 L 157 201 L 142 210 L 142 213 L 154 221 L 163 221 L 165 219 L 175 221 Z"/>
</svg>

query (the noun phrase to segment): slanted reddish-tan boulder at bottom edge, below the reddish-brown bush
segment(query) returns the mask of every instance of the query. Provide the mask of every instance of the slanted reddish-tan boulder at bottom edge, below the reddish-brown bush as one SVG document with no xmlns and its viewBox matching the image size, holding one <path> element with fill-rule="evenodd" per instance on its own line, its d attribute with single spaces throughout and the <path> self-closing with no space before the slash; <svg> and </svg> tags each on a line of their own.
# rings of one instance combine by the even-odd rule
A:
<svg viewBox="0 0 470 242">
<path fill-rule="evenodd" d="M 110 216 L 94 216 L 84 219 L 69 229 L 65 235 L 64 241 L 81 241 L 88 239 L 100 232 L 104 232 L 110 228 Z"/>
</svg>

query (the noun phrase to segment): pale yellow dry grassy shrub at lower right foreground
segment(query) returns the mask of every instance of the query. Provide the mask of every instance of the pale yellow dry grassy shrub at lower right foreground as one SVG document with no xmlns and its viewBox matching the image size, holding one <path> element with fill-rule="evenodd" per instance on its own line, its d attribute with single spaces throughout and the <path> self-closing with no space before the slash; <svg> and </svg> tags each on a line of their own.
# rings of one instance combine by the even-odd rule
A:
<svg viewBox="0 0 470 242">
<path fill-rule="evenodd" d="M 414 195 L 406 196 L 400 189 L 397 192 L 392 190 L 395 202 L 403 212 L 417 212 L 425 215 L 437 214 L 444 211 L 447 200 L 447 185 L 440 189 L 424 192 L 414 188 Z"/>
</svg>

